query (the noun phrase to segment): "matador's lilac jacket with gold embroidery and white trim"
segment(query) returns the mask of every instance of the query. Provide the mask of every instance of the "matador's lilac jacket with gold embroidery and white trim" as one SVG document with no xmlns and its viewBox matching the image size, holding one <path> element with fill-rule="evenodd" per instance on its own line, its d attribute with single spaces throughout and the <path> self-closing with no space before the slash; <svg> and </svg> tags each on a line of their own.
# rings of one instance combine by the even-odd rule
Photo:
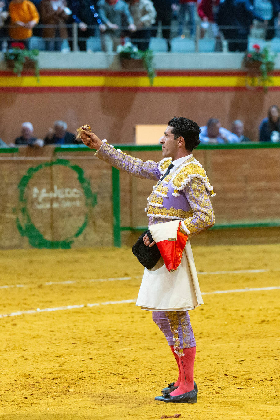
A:
<svg viewBox="0 0 280 420">
<path fill-rule="evenodd" d="M 214 211 L 209 197 L 214 197 L 215 193 L 204 169 L 193 156 L 162 179 L 171 157 L 165 157 L 160 162 L 144 162 L 116 150 L 106 140 L 95 155 L 130 175 L 157 181 L 145 208 L 149 226 L 181 220 L 181 231 L 190 238 L 214 225 Z"/>
</svg>

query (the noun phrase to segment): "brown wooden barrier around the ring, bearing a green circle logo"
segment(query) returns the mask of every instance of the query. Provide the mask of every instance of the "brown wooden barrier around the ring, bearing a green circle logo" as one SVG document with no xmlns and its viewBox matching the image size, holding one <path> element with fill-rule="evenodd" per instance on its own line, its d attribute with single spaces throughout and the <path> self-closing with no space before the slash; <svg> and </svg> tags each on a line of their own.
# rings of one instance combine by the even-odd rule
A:
<svg viewBox="0 0 280 420">
<path fill-rule="evenodd" d="M 158 150 L 130 154 L 162 158 Z M 280 226 L 280 147 L 196 150 L 194 156 L 217 194 L 216 226 Z M 112 168 L 92 151 L 20 147 L 18 153 L 0 153 L 0 173 L 0 249 L 113 245 Z M 147 226 L 144 207 L 152 184 L 120 174 L 121 226 Z M 236 232 L 230 235 L 238 241 Z M 131 245 L 135 236 L 123 232 L 123 244 Z M 203 234 L 198 238 L 206 243 Z M 279 241 L 279 228 L 272 241 Z"/>
</svg>

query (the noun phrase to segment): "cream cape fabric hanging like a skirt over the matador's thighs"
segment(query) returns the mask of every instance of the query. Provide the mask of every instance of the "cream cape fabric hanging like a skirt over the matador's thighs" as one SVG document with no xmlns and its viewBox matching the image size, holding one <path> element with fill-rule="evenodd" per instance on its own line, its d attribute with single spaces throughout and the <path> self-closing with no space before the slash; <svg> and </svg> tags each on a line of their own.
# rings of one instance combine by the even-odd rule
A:
<svg viewBox="0 0 280 420">
<path fill-rule="evenodd" d="M 181 264 L 170 273 L 162 257 L 148 270 L 145 268 L 136 306 L 150 311 L 184 311 L 203 304 L 189 241 Z"/>
</svg>

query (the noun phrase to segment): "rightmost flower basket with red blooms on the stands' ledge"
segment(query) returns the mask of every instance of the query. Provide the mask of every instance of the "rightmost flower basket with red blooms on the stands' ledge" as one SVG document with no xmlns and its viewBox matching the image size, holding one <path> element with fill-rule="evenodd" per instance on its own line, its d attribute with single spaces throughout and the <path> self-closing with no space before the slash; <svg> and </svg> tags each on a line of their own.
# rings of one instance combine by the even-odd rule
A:
<svg viewBox="0 0 280 420">
<path fill-rule="evenodd" d="M 247 71 L 246 87 L 254 89 L 262 86 L 264 92 L 272 86 L 271 73 L 275 66 L 277 54 L 270 52 L 267 47 L 261 50 L 259 44 L 253 45 L 253 51 L 247 52 L 243 59 L 243 67 Z"/>
</svg>

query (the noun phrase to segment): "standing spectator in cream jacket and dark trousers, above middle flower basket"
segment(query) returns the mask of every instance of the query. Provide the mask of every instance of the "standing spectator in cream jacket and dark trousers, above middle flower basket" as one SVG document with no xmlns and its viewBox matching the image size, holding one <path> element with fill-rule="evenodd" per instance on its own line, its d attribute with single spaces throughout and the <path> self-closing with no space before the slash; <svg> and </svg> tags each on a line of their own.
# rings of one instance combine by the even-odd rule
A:
<svg viewBox="0 0 280 420">
<path fill-rule="evenodd" d="M 151 37 L 151 26 L 155 23 L 157 12 L 151 0 L 128 0 L 129 10 L 133 17 L 136 31 L 131 36 L 131 42 L 139 50 L 145 51 Z M 140 39 L 142 39 L 140 41 Z"/>
</svg>

